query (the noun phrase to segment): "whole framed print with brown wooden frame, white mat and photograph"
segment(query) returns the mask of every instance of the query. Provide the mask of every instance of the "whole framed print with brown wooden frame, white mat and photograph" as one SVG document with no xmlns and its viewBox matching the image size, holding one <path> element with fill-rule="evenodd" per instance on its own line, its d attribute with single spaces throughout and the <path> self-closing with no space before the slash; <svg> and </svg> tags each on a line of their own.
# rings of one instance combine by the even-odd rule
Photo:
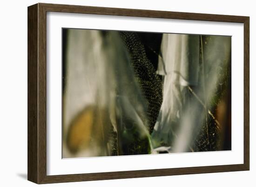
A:
<svg viewBox="0 0 256 187">
<path fill-rule="evenodd" d="M 249 17 L 28 7 L 28 180 L 249 170 Z"/>
</svg>

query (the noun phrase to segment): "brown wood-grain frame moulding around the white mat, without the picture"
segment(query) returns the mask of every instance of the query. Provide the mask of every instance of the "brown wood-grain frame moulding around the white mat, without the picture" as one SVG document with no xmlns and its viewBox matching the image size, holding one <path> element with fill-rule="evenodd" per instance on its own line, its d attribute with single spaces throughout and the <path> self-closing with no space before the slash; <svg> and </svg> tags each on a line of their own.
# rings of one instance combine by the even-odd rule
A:
<svg viewBox="0 0 256 187">
<path fill-rule="evenodd" d="M 90 174 L 47 175 L 46 173 L 46 13 L 87 13 L 165 19 L 236 22 L 244 24 L 244 162 L 243 164 L 120 171 Z M 28 7 L 28 180 L 43 184 L 121 178 L 200 174 L 249 170 L 249 17 L 203 13 L 181 13 L 94 6 L 38 3 Z M 242 62 L 241 62 L 242 63 Z"/>
</svg>

